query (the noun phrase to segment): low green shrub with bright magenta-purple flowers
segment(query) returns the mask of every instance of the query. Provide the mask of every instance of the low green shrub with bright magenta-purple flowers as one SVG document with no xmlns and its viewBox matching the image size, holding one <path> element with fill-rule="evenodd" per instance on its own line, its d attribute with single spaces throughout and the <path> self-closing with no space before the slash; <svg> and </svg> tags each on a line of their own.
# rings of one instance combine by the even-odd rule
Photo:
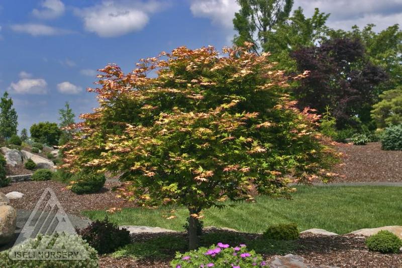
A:
<svg viewBox="0 0 402 268">
<path fill-rule="evenodd" d="M 254 268 L 267 266 L 262 256 L 254 250 L 247 250 L 246 245 L 230 247 L 229 244 L 218 243 L 209 248 L 200 247 L 185 253 L 176 253 L 170 262 L 172 267 L 242 267 Z M 234 264 L 234 265 L 232 265 Z"/>
</svg>

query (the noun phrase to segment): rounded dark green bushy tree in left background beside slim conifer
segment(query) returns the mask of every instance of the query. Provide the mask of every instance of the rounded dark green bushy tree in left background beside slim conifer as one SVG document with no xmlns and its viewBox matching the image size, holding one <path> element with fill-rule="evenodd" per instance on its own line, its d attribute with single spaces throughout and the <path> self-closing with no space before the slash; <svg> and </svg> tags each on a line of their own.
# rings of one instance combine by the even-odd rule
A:
<svg viewBox="0 0 402 268">
<path fill-rule="evenodd" d="M 31 137 L 41 143 L 57 145 L 61 135 L 61 130 L 56 123 L 39 122 L 30 128 Z"/>
</svg>

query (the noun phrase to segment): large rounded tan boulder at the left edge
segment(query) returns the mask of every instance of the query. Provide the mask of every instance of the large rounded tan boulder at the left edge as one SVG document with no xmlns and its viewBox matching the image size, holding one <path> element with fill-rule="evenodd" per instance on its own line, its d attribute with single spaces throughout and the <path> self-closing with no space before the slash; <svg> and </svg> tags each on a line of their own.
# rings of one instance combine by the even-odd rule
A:
<svg viewBox="0 0 402 268">
<path fill-rule="evenodd" d="M 8 205 L 0 205 L 0 245 L 10 242 L 17 226 L 17 212 Z"/>
</svg>

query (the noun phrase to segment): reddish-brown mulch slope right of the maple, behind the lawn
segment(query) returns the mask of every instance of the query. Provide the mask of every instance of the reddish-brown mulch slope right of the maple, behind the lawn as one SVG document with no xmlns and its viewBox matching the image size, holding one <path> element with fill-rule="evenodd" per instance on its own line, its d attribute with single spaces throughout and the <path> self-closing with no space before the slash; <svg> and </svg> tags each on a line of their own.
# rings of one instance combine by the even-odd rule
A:
<svg viewBox="0 0 402 268">
<path fill-rule="evenodd" d="M 402 151 L 381 150 L 380 142 L 339 144 L 337 149 L 344 156 L 333 169 L 340 175 L 335 182 L 402 182 Z"/>
</svg>

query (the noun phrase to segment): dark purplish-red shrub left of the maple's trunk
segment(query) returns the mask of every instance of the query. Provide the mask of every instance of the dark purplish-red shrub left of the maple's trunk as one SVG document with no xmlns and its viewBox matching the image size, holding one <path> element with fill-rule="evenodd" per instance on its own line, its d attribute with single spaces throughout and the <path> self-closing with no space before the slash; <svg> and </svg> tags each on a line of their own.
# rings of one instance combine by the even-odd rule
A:
<svg viewBox="0 0 402 268">
<path fill-rule="evenodd" d="M 119 229 L 107 217 L 103 221 L 93 221 L 87 227 L 76 231 L 99 254 L 113 252 L 131 242 L 130 232 L 125 228 Z"/>
</svg>

